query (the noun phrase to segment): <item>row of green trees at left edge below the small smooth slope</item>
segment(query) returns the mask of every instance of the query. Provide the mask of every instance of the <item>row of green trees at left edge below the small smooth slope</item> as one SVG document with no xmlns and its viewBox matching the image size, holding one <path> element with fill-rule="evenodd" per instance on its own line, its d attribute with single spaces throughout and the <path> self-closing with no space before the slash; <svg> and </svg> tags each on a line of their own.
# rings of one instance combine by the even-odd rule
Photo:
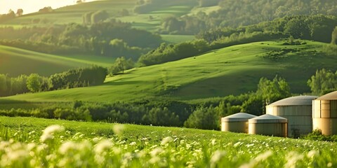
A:
<svg viewBox="0 0 337 168">
<path fill-rule="evenodd" d="M 107 76 L 107 69 L 100 66 L 71 69 L 62 73 L 55 73 L 50 77 L 32 73 L 29 76 L 20 75 L 11 78 L 0 74 L 0 97 L 22 94 L 26 92 L 46 92 L 74 87 L 88 87 L 100 85 Z"/>
</svg>

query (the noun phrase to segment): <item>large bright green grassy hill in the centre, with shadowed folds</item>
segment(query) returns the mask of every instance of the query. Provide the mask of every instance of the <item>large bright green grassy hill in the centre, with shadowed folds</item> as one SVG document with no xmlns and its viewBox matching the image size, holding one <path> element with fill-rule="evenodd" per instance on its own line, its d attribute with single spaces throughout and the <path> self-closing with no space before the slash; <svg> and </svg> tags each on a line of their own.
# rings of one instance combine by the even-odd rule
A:
<svg viewBox="0 0 337 168">
<path fill-rule="evenodd" d="M 145 97 L 201 99 L 255 91 L 261 77 L 285 78 L 294 93 L 310 92 L 306 82 L 317 69 L 336 71 L 336 59 L 324 55 L 324 43 L 303 45 L 258 42 L 213 50 L 176 62 L 131 69 L 104 85 L 22 94 L 3 99 L 35 102 L 84 100 L 116 102 Z"/>
</svg>

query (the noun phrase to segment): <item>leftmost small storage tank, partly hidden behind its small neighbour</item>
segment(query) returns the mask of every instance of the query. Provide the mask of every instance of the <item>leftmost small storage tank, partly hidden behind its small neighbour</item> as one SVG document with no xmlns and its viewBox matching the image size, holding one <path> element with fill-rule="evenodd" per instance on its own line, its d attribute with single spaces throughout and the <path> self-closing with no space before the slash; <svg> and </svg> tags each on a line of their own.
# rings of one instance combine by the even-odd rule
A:
<svg viewBox="0 0 337 168">
<path fill-rule="evenodd" d="M 255 117 L 249 113 L 235 113 L 221 118 L 221 131 L 248 133 L 248 120 Z"/>
</svg>

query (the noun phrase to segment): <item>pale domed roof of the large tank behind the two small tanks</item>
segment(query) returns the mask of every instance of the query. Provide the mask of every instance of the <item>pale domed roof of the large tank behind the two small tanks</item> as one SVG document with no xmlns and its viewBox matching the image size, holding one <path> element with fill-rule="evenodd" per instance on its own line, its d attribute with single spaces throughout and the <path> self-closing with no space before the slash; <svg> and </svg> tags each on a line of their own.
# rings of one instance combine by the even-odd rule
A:
<svg viewBox="0 0 337 168">
<path fill-rule="evenodd" d="M 317 96 L 296 96 L 281 99 L 277 102 L 269 104 L 267 106 L 300 106 L 300 105 L 312 105 L 312 100 L 317 99 Z"/>
</svg>

